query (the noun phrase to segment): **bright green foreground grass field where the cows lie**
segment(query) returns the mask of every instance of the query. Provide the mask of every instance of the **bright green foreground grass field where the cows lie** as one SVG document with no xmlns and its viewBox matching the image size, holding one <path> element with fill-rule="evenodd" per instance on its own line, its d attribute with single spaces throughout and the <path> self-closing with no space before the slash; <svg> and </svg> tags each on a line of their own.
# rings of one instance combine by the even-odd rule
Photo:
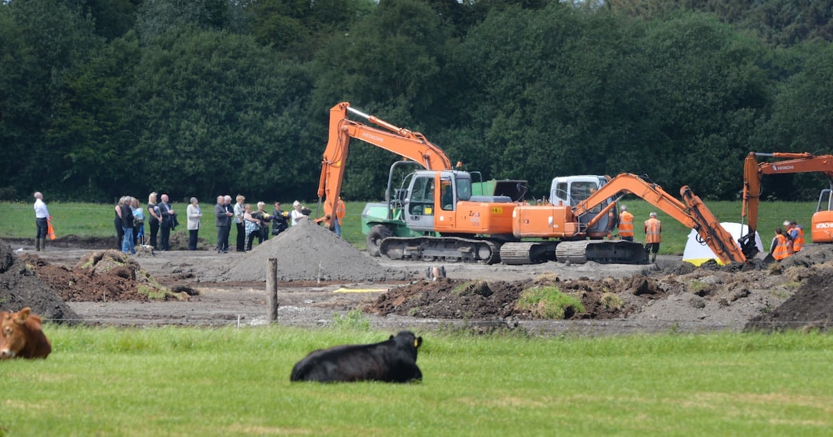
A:
<svg viewBox="0 0 833 437">
<path fill-rule="evenodd" d="M 830 435 L 833 336 L 417 332 L 420 384 L 289 383 L 392 332 L 47 325 L 0 363 L 0 435 Z"/>
</svg>

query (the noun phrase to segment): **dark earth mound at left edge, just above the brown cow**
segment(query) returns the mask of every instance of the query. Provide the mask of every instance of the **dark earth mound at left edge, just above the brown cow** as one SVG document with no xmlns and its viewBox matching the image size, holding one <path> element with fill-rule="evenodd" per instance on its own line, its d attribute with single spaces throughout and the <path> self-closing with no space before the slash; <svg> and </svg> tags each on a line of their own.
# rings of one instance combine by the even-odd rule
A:
<svg viewBox="0 0 833 437">
<path fill-rule="evenodd" d="M 42 319 L 76 323 L 78 315 L 19 259 L 12 246 L 0 240 L 0 309 L 30 307 Z"/>
</svg>

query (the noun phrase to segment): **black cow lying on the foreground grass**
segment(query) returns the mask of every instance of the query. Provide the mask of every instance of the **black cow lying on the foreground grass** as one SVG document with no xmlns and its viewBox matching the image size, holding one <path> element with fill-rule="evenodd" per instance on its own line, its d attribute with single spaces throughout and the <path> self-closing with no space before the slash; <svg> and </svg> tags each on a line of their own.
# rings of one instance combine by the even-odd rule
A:
<svg viewBox="0 0 833 437">
<path fill-rule="evenodd" d="M 310 352 L 292 368 L 291 381 L 353 382 L 422 380 L 416 348 L 422 344 L 409 330 L 372 345 L 341 345 Z"/>
</svg>

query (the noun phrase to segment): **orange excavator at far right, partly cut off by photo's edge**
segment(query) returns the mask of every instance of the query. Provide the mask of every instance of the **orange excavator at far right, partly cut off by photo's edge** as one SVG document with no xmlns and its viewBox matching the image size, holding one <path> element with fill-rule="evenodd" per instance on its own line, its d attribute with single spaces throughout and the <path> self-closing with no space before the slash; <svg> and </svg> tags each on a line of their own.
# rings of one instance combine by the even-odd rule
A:
<svg viewBox="0 0 833 437">
<path fill-rule="evenodd" d="M 776 158 L 781 161 L 758 161 L 758 157 Z M 814 243 L 833 242 L 833 156 L 811 153 L 760 153 L 751 151 L 743 166 L 743 206 L 741 216 L 748 216 L 749 234 L 741 236 L 741 248 L 747 257 L 754 256 L 755 231 L 758 226 L 758 206 L 761 201 L 761 176 L 781 173 L 820 172 L 827 176 L 829 188 L 821 191 L 813 214 L 811 238 Z"/>
</svg>

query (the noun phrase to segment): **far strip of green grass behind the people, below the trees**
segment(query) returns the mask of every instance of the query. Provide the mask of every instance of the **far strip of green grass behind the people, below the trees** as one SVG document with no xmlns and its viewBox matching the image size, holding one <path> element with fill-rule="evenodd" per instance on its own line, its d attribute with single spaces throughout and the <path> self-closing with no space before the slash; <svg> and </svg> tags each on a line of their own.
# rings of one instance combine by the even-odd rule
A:
<svg viewBox="0 0 833 437">
<path fill-rule="evenodd" d="M 628 206 L 629 211 L 635 216 L 636 241 L 645 241 L 641 223 L 647 220 L 651 211 L 656 211 L 658 218 L 662 221 L 663 229 L 660 253 L 663 255 L 682 255 L 686 247 L 688 234 L 691 231 L 689 228 L 641 199 L 627 200 L 623 203 Z M 366 246 L 365 236 L 362 234 L 362 210 L 364 205 L 364 202 L 347 202 L 347 214 L 342 226 L 344 239 L 359 250 L 363 250 Z M 112 224 L 114 215 L 112 205 L 53 202 L 47 203 L 47 206 L 52 214 L 52 225 L 55 227 L 58 236 L 112 236 L 115 239 L 116 230 Z M 174 210 L 180 214 L 185 213 L 186 206 L 183 204 L 173 205 Z M 712 201 L 707 202 L 706 206 L 720 221 L 741 221 L 740 201 Z M 202 204 L 201 207 L 203 211 L 208 213 L 204 212 L 199 236 L 207 241 L 208 246 L 215 246 L 217 244 L 217 227 L 211 213 L 214 206 Z M 310 207 L 314 211 L 315 205 L 311 203 Z M 781 223 L 785 220 L 795 220 L 809 229 L 807 226 L 809 226 L 814 212 L 816 212 L 815 202 L 761 202 L 758 232 L 761 234 L 764 249 L 769 250 L 776 226 L 781 226 Z M 0 202 L 0 223 L 2 223 L 0 238 L 34 238 L 35 218 L 30 204 Z M 175 232 L 187 233 L 184 220 L 181 220 L 181 226 Z M 147 225 L 145 225 L 145 233 L 146 235 L 150 233 Z M 237 230 L 232 226 L 232 241 L 234 241 L 236 235 Z M 810 232 L 806 232 L 806 238 L 808 241 L 810 240 Z"/>
</svg>

